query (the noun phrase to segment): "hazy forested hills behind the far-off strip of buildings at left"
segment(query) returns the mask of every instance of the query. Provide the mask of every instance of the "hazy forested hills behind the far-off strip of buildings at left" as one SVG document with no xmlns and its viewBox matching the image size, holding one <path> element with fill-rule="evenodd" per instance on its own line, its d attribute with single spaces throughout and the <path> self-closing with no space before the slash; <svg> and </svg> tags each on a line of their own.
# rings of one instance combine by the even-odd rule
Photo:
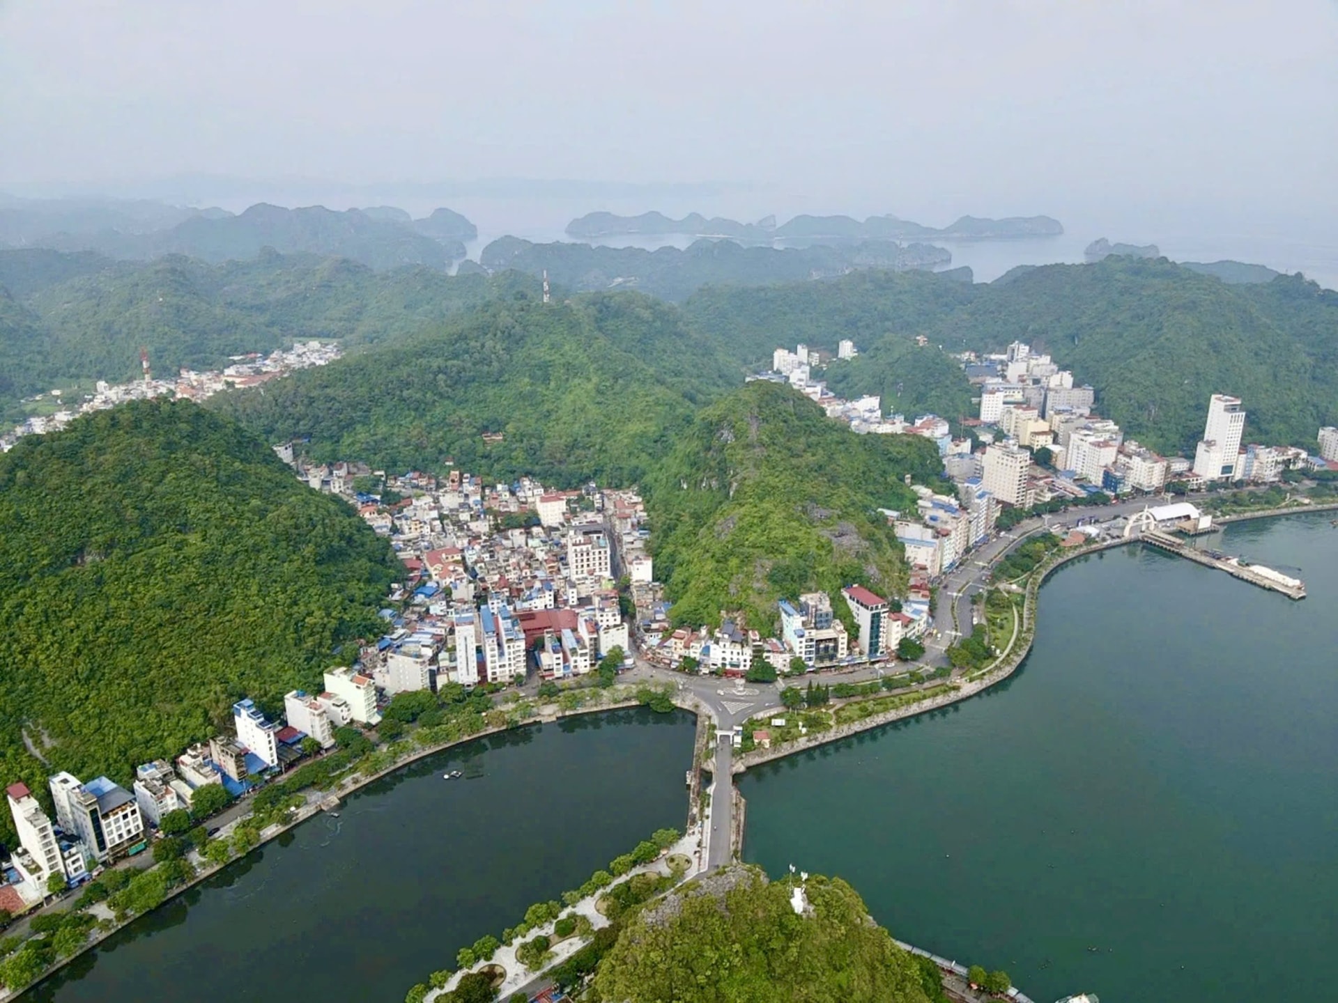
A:
<svg viewBox="0 0 1338 1003">
<path fill-rule="evenodd" d="M 173 373 L 294 340 L 393 341 L 520 285 L 534 284 L 273 251 L 218 265 L 0 251 L 0 290 L 13 293 L 0 292 L 0 403 L 71 380 L 132 378 L 140 346 L 157 372 Z"/>
</svg>

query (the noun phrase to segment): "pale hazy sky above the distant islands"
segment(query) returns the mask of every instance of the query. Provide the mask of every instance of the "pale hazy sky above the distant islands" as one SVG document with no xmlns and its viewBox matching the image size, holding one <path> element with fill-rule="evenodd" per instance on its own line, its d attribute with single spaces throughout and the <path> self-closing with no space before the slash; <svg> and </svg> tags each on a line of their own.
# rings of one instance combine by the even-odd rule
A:
<svg viewBox="0 0 1338 1003">
<path fill-rule="evenodd" d="M 0 0 L 0 189 L 182 173 L 1334 218 L 1338 3 Z"/>
</svg>

